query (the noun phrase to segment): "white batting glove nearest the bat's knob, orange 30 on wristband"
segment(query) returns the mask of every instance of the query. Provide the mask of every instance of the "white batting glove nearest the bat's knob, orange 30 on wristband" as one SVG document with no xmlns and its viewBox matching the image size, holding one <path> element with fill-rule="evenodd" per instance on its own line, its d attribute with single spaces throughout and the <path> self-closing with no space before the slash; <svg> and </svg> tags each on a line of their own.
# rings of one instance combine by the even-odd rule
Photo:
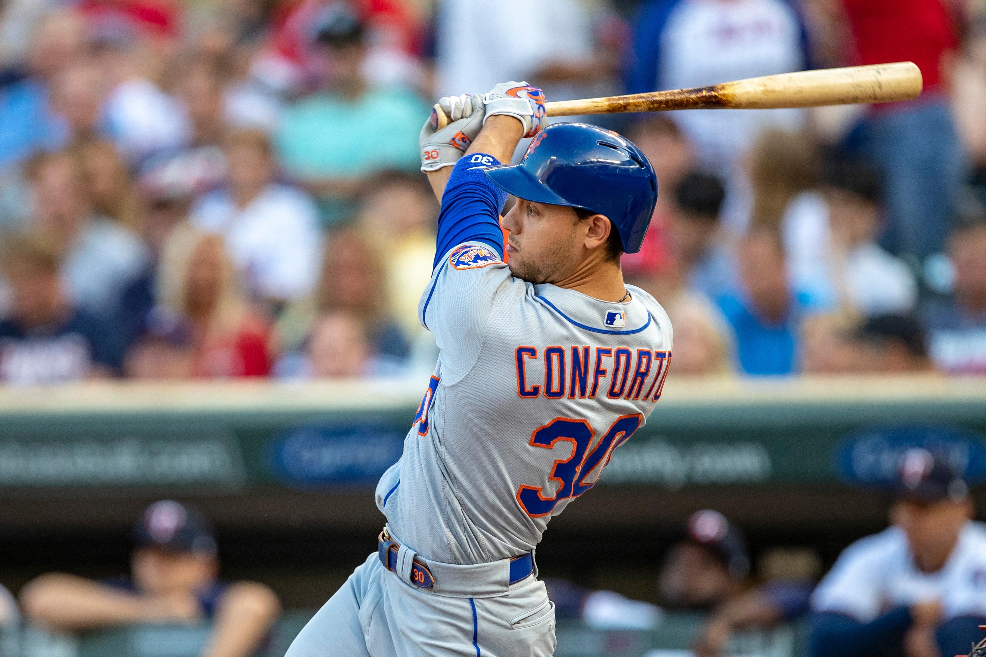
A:
<svg viewBox="0 0 986 657">
<path fill-rule="evenodd" d="M 456 164 L 483 128 L 485 106 L 482 94 L 462 94 L 438 101 L 449 117 L 449 125 L 436 130 L 434 116 L 421 128 L 418 145 L 421 147 L 421 170 L 437 171 Z"/>
</svg>

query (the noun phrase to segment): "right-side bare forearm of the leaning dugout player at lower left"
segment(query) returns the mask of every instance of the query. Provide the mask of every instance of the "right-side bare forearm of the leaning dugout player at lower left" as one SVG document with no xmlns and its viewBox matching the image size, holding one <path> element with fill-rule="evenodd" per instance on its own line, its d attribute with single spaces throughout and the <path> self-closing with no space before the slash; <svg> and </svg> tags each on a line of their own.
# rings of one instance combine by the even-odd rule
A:
<svg viewBox="0 0 986 657">
<path fill-rule="evenodd" d="M 281 603 L 262 584 L 235 584 L 223 596 L 203 657 L 246 657 L 277 620 Z"/>
</svg>

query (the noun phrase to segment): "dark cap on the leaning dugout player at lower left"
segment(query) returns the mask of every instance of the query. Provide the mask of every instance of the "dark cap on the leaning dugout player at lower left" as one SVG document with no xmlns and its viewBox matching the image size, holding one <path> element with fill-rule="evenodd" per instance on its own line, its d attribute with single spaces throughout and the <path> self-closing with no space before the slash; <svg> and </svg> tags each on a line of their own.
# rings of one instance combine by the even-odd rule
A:
<svg viewBox="0 0 986 657">
<path fill-rule="evenodd" d="M 212 522 L 201 511 L 174 499 L 147 507 L 134 524 L 134 542 L 140 548 L 215 557 L 218 551 Z"/>
</svg>

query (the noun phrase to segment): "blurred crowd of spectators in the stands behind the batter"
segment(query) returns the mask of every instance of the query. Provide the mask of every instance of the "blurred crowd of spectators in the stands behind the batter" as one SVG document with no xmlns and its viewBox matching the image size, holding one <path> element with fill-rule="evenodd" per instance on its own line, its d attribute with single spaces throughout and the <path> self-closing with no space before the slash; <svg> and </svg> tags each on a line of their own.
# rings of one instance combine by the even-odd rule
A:
<svg viewBox="0 0 986 657">
<path fill-rule="evenodd" d="M 623 269 L 678 373 L 986 371 L 979 3 L 4 0 L 0 381 L 429 371 L 433 99 L 902 60 L 906 103 L 580 119 L 657 169 Z"/>
</svg>

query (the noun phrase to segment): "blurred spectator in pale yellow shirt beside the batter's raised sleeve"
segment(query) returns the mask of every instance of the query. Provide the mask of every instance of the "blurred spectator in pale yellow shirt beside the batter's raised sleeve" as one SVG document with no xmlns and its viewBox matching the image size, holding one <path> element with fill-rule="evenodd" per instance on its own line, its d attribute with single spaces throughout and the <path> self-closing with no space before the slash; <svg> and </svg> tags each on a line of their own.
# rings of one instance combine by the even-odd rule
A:
<svg viewBox="0 0 986 657">
<path fill-rule="evenodd" d="M 393 318 L 407 336 L 421 332 L 418 302 L 431 280 L 438 206 L 415 173 L 384 171 L 367 180 L 359 223 L 380 250 Z"/>
</svg>

